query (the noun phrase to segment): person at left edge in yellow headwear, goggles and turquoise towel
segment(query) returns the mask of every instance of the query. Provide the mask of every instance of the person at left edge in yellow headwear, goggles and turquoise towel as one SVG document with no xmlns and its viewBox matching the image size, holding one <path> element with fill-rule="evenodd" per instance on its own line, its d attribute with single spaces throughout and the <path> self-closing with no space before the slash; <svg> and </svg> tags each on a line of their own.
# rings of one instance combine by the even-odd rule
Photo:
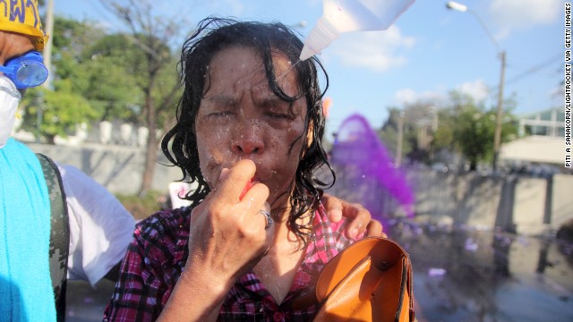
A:
<svg viewBox="0 0 573 322">
<path fill-rule="evenodd" d="M 37 1 L 0 4 L 0 320 L 63 321 L 66 280 L 113 279 L 135 220 L 86 174 L 10 138 L 24 92 L 47 80 L 47 35 Z"/>
</svg>

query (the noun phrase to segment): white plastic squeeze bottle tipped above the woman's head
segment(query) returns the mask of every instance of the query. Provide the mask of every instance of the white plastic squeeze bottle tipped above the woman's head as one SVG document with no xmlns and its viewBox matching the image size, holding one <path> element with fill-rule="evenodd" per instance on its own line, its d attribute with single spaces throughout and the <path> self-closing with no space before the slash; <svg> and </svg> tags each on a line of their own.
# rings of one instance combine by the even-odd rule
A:
<svg viewBox="0 0 573 322">
<path fill-rule="evenodd" d="M 304 40 L 300 60 L 321 50 L 347 31 L 387 30 L 415 0 L 323 0 L 322 16 Z"/>
</svg>

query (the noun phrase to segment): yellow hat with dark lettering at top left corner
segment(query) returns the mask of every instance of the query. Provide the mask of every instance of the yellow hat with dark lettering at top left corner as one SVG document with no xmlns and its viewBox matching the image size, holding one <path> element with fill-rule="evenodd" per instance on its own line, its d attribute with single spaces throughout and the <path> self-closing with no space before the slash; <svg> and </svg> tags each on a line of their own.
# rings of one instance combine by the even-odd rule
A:
<svg viewBox="0 0 573 322">
<path fill-rule="evenodd" d="M 47 35 L 39 20 L 38 0 L 0 0 L 0 30 L 30 36 L 36 50 L 44 49 Z"/>
</svg>

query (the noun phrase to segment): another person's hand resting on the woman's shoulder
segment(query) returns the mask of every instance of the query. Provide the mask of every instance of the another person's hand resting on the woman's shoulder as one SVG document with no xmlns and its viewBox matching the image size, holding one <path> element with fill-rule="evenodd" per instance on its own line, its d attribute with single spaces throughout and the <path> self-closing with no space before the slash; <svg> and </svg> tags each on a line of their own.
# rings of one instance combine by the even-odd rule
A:
<svg viewBox="0 0 573 322">
<path fill-rule="evenodd" d="M 364 237 L 381 236 L 388 237 L 383 232 L 380 221 L 372 219 L 370 211 L 357 203 L 346 202 L 343 199 L 330 196 L 328 193 L 322 195 L 322 204 L 326 208 L 327 216 L 333 223 L 338 223 L 345 217 L 348 220 L 345 234 L 348 238 L 355 238 L 365 232 Z"/>
</svg>

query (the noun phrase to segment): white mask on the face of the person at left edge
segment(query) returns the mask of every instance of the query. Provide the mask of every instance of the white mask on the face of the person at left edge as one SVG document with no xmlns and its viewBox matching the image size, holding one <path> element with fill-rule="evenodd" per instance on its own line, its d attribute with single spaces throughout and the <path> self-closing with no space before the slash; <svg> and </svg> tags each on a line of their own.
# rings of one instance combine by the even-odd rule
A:
<svg viewBox="0 0 573 322">
<path fill-rule="evenodd" d="M 20 91 L 16 89 L 13 81 L 0 75 L 0 148 L 4 148 L 10 138 L 20 100 Z"/>
</svg>

